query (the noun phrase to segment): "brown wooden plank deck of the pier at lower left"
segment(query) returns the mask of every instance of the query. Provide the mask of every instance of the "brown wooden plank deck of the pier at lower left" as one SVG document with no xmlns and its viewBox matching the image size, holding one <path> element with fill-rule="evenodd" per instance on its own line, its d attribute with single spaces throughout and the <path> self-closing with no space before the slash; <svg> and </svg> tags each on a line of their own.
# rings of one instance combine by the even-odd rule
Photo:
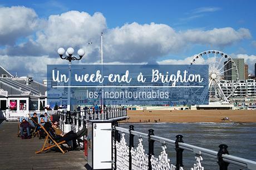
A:
<svg viewBox="0 0 256 170">
<path fill-rule="evenodd" d="M 17 137 L 17 131 L 17 122 L 0 124 L 0 169 L 86 169 L 82 151 L 35 154 L 44 139 L 21 139 Z"/>
</svg>

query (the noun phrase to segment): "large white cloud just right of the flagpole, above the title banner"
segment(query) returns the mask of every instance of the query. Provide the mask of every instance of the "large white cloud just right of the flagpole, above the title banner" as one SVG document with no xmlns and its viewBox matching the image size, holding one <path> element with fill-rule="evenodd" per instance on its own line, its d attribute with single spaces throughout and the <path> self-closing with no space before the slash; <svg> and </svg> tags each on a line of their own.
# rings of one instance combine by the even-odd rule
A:
<svg viewBox="0 0 256 170">
<path fill-rule="evenodd" d="M 166 24 L 125 24 L 110 29 L 104 40 L 110 61 L 145 62 L 180 51 L 184 41 Z"/>
</svg>

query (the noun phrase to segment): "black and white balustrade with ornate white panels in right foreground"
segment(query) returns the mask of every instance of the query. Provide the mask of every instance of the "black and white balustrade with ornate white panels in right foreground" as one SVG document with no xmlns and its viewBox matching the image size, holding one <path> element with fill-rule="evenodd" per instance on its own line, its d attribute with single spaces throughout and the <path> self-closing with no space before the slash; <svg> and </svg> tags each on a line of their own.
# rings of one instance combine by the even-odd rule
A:
<svg viewBox="0 0 256 170">
<path fill-rule="evenodd" d="M 118 127 L 115 122 L 113 126 L 114 141 L 113 141 L 113 163 L 114 169 L 135 169 L 135 170 L 184 170 L 183 166 L 183 151 L 190 151 L 195 154 L 195 163 L 191 165 L 190 170 L 204 170 L 201 162 L 203 161 L 202 155 L 211 158 L 218 158 L 220 170 L 227 170 L 230 163 L 242 166 L 248 169 L 256 170 L 256 162 L 248 159 L 230 156 L 228 153 L 228 146 L 220 144 L 219 152 L 210 149 L 193 146 L 183 142 L 183 136 L 177 135 L 176 140 L 171 140 L 163 137 L 155 136 L 154 130 L 149 129 L 149 133 L 141 133 L 134 131 L 134 126 L 130 129 Z M 121 133 L 121 135 L 120 135 Z M 129 144 L 125 141 L 125 134 L 129 135 Z M 121 137 L 120 137 L 121 136 Z M 134 136 L 138 137 L 138 144 L 134 147 Z M 143 146 L 143 139 L 146 138 L 148 142 L 148 153 L 145 153 Z M 154 142 L 161 144 L 161 152 L 159 155 L 154 153 Z M 173 147 L 174 146 L 174 147 Z M 170 156 L 166 150 L 175 149 L 176 151 L 176 164 L 171 164 Z M 213 164 L 216 163 L 213 162 Z M 189 166 L 187 166 L 189 167 Z"/>
</svg>

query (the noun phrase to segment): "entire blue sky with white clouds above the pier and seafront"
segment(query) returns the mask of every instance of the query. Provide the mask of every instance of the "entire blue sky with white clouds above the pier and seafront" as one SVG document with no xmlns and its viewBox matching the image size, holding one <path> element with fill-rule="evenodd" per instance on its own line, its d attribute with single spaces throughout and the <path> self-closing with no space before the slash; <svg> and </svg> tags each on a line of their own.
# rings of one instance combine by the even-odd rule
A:
<svg viewBox="0 0 256 170">
<path fill-rule="evenodd" d="M 0 65 L 42 81 L 57 49 L 83 48 L 76 63 L 188 64 L 216 49 L 256 62 L 255 1 L 1 1 Z M 92 44 L 88 44 L 92 42 Z M 73 63 L 75 63 L 73 62 Z"/>
</svg>

